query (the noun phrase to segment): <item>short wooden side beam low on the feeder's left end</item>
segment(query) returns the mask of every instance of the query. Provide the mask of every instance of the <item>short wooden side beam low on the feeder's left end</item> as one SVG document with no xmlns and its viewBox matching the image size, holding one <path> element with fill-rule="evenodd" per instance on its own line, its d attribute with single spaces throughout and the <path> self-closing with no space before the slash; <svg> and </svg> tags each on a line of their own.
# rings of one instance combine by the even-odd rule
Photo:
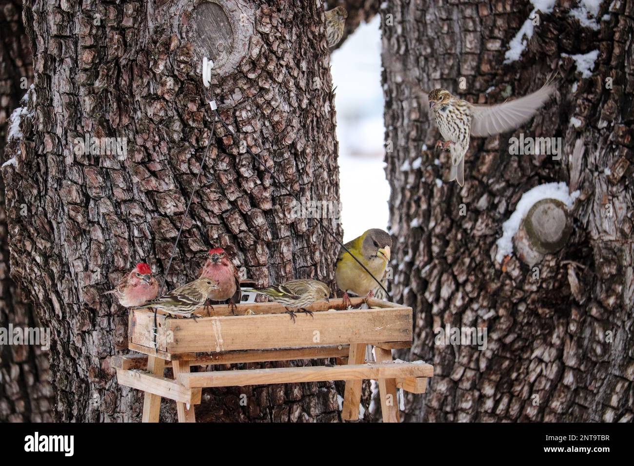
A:
<svg viewBox="0 0 634 466">
<path fill-rule="evenodd" d="M 155 396 L 155 398 L 159 400 L 159 406 L 161 397 L 173 399 L 181 403 L 189 403 L 190 405 L 200 403 L 201 389 L 183 387 L 183 385 L 177 384 L 174 380 L 166 379 L 161 375 L 150 372 L 117 369 L 117 380 L 119 385 L 126 385 L 126 387 L 144 391 L 146 395 L 152 394 L 152 396 Z M 145 406 L 143 408 L 145 410 Z M 156 419 L 148 417 L 146 422 L 157 421 L 158 415 L 156 415 Z"/>
</svg>

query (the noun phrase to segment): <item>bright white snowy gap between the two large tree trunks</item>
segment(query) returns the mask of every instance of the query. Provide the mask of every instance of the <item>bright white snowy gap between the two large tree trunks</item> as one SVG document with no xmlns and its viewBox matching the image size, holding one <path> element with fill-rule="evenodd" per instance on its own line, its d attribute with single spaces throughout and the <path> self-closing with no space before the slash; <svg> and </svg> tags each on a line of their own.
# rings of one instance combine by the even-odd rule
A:
<svg viewBox="0 0 634 466">
<path fill-rule="evenodd" d="M 337 110 L 344 241 L 387 228 L 380 16 L 362 24 L 330 57 Z"/>
</svg>

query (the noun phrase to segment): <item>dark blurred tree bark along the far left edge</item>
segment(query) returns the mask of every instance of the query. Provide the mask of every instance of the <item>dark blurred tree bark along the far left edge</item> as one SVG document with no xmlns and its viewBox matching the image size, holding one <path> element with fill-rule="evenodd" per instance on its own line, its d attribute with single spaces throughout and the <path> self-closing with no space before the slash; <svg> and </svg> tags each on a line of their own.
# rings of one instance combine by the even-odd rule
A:
<svg viewBox="0 0 634 466">
<path fill-rule="evenodd" d="M 33 81 L 29 41 L 22 24 L 22 2 L 0 1 L 0 165 L 11 112 Z M 0 177 L 0 327 L 39 327 L 34 309 L 9 274 L 9 247 Z M 0 348 L 0 422 L 51 420 L 48 353 L 39 346 Z"/>
</svg>

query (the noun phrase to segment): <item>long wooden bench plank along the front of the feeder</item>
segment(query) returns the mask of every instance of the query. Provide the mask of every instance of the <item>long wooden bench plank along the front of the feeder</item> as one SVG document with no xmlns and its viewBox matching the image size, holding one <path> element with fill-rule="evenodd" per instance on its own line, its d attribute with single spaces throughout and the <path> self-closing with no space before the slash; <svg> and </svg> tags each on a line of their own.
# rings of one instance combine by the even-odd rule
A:
<svg viewBox="0 0 634 466">
<path fill-rule="evenodd" d="M 385 363 L 334 367 L 287 367 L 185 373 L 179 374 L 178 381 L 183 384 L 184 387 L 198 388 L 287 384 L 290 382 L 321 382 L 325 380 L 432 377 L 432 375 L 434 375 L 434 368 L 429 364 Z M 394 402 L 396 402 L 396 399 Z"/>
</svg>

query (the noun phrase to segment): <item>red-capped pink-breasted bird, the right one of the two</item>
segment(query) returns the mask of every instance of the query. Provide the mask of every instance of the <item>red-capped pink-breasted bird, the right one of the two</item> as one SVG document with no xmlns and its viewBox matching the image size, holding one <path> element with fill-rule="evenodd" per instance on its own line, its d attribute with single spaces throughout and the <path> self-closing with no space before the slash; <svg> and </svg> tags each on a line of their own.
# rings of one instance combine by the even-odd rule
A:
<svg viewBox="0 0 634 466">
<path fill-rule="evenodd" d="M 240 302 L 240 275 L 238 269 L 229 259 L 224 249 L 217 247 L 209 250 L 209 257 L 200 269 L 200 277 L 210 278 L 217 283 L 218 288 L 211 290 L 209 299 L 213 301 L 227 301 L 231 313 L 235 314 L 235 304 L 232 298 Z M 213 308 L 213 307 L 212 307 Z"/>
</svg>

